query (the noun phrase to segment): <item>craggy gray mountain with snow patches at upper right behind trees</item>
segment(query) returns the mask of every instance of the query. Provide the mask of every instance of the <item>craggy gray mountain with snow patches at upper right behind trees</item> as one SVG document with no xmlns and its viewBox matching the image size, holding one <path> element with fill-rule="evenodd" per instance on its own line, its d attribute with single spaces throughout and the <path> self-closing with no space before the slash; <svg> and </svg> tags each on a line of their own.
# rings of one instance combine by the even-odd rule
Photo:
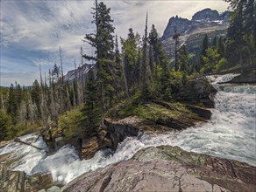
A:
<svg viewBox="0 0 256 192">
<path fill-rule="evenodd" d="M 180 33 L 179 45 L 186 44 L 190 52 L 199 52 L 205 34 L 210 39 L 224 36 L 228 28 L 229 11 L 219 14 L 217 10 L 204 9 L 196 12 L 191 20 L 181 17 L 171 17 L 161 38 L 170 58 L 174 57 L 175 30 Z"/>
</svg>

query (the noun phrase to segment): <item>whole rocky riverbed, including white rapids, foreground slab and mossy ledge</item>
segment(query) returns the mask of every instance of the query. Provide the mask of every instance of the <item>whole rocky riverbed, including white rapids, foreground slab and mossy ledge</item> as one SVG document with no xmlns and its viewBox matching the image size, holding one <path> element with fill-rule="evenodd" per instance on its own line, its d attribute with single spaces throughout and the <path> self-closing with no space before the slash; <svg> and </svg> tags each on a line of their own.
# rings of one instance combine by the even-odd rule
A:
<svg viewBox="0 0 256 192">
<path fill-rule="evenodd" d="M 181 93 L 189 104 L 113 111 L 99 135 L 83 141 L 84 160 L 70 145 L 47 152 L 42 138 L 33 145 L 43 150 L 1 142 L 0 191 L 255 191 L 255 86 L 215 84 L 232 77 L 209 77 L 218 90 L 212 109 L 204 108 L 212 105 L 207 84 L 190 81 L 197 92 Z"/>
</svg>

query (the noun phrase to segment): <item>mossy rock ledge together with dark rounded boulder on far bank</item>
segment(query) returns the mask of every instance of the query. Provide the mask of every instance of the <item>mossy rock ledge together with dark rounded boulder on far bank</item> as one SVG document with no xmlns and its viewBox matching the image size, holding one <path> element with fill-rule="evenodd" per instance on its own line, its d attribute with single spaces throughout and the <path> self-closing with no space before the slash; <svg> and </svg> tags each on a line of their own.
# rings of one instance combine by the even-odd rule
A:
<svg viewBox="0 0 256 192">
<path fill-rule="evenodd" d="M 110 117 L 104 120 L 104 126 L 97 131 L 98 143 L 88 145 L 87 151 L 96 153 L 96 147 L 116 150 L 118 143 L 126 137 L 166 134 L 207 122 L 211 116 L 209 107 L 214 107 L 213 97 L 216 93 L 217 90 L 207 79 L 189 79 L 179 94 L 179 104 L 161 100 L 137 103 L 134 106 L 140 106 L 145 111 L 131 115 L 120 115 L 122 110 L 125 110 L 117 107 L 111 111 Z"/>
</svg>

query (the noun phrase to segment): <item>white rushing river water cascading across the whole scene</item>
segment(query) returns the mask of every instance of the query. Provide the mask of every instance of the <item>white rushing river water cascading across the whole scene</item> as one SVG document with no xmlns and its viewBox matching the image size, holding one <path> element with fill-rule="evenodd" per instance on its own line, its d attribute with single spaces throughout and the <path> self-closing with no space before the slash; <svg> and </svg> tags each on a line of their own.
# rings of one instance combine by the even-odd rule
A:
<svg viewBox="0 0 256 192">
<path fill-rule="evenodd" d="M 14 158 L 20 158 L 12 165 L 14 170 L 23 170 L 29 175 L 51 173 L 54 181 L 64 183 L 89 170 L 128 160 L 143 147 L 160 145 L 179 146 L 187 151 L 244 161 L 256 166 L 256 86 L 217 84 L 234 76 L 229 74 L 208 77 L 218 90 L 216 106 L 211 110 L 211 120 L 180 133 L 129 137 L 118 145 L 115 154 L 102 150 L 92 159 L 82 161 L 72 146 L 64 146 L 55 154 L 47 156 L 43 150 L 11 142 L 0 149 L 0 154 L 12 152 Z M 28 134 L 20 139 L 34 141 L 36 137 L 37 135 Z M 47 150 L 46 143 L 41 138 L 34 144 Z"/>
</svg>

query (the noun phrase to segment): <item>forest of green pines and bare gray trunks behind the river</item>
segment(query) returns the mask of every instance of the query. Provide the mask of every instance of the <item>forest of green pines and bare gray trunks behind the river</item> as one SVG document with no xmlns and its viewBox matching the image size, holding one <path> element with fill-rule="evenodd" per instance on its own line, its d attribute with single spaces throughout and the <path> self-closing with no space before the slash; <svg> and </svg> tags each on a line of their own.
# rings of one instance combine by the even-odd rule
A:
<svg viewBox="0 0 256 192">
<path fill-rule="evenodd" d="M 231 69 L 255 70 L 255 2 L 226 1 L 231 3 L 226 37 L 210 41 L 205 35 L 200 54 L 195 58 L 186 45 L 178 45 L 180 34 L 175 31 L 172 60 L 154 24 L 148 26 L 147 13 L 143 35 L 131 27 L 127 29 L 127 37 L 120 38 L 115 34 L 110 8 L 95 1 L 92 24 L 96 30 L 84 37 L 85 44 L 91 45 L 95 53 L 94 56 L 82 53 L 82 60 L 92 64 L 87 79 L 76 74 L 75 69 L 75 79 L 65 81 L 60 62 L 48 74 L 41 74 L 32 86 L 15 82 L 10 87 L 1 87 L 0 140 L 49 125 L 64 129 L 75 124 L 77 130 L 89 136 L 103 125 L 109 110 L 120 103 L 131 99 L 139 103 L 153 99 L 175 101 L 186 82 L 196 76 Z M 70 110 L 73 113 L 67 113 Z"/>
</svg>

